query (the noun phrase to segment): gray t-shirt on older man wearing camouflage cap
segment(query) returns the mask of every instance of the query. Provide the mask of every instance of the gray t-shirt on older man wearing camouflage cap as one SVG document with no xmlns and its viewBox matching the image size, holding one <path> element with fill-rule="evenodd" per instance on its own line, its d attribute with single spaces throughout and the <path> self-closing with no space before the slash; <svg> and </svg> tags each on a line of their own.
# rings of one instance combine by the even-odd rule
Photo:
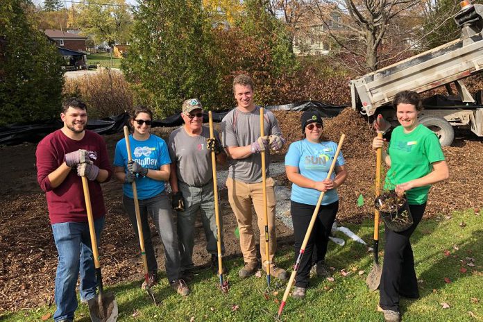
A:
<svg viewBox="0 0 483 322">
<path fill-rule="evenodd" d="M 219 140 L 217 131 L 214 137 Z M 211 151 L 207 149 L 206 139 L 210 138 L 210 128 L 202 127 L 201 134 L 188 135 L 185 126 L 171 132 L 168 151 L 171 162 L 176 162 L 178 180 L 188 185 L 205 185 L 213 178 Z"/>
</svg>

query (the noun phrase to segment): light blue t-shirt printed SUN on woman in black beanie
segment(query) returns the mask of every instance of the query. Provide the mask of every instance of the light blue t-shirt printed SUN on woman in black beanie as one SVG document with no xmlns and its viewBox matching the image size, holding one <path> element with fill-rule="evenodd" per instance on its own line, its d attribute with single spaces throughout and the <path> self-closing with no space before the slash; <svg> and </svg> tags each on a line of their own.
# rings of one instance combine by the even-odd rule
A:
<svg viewBox="0 0 483 322">
<path fill-rule="evenodd" d="M 327 178 L 336 150 L 337 144 L 332 141 L 312 143 L 307 139 L 302 139 L 290 144 L 289 151 L 285 155 L 285 165 L 298 167 L 298 173 L 306 178 L 314 181 L 323 181 Z M 345 163 L 342 152 L 339 152 L 335 162 L 336 167 Z M 335 171 L 332 172 L 330 178 L 334 180 Z M 320 194 L 319 190 L 299 187 L 293 183 L 290 199 L 305 205 L 316 205 Z M 329 205 L 338 200 L 337 190 L 330 189 L 323 195 L 321 204 Z"/>
</svg>

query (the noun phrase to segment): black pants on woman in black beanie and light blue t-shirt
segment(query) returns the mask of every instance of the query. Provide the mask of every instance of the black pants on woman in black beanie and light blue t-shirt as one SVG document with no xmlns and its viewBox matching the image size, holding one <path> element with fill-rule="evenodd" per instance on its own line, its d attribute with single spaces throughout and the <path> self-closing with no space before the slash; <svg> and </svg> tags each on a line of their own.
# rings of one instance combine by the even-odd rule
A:
<svg viewBox="0 0 483 322">
<path fill-rule="evenodd" d="M 300 247 L 302 246 L 305 232 L 307 232 L 307 228 L 309 228 L 310 219 L 312 219 L 314 210 L 314 205 L 305 205 L 304 203 L 290 201 L 290 213 L 292 223 L 294 223 L 295 258 L 297 258 L 298 253 L 300 253 Z M 317 252 L 316 260 L 320 262 L 325 259 L 330 229 L 332 228 L 332 223 L 334 223 L 337 210 L 339 210 L 339 201 L 330 203 L 329 205 L 321 205 L 319 208 L 319 214 L 317 214 L 314 228 L 310 234 L 307 246 L 305 246 L 305 252 L 300 261 L 300 266 L 298 266 L 297 276 L 295 278 L 296 287 L 307 288 L 309 285 L 314 246 L 316 246 Z"/>
</svg>

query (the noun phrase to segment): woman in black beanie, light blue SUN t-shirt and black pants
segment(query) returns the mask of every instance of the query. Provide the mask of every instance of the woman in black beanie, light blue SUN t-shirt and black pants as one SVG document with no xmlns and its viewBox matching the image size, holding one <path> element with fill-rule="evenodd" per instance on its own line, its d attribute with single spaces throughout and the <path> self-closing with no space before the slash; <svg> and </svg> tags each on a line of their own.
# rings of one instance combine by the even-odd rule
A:
<svg viewBox="0 0 483 322">
<path fill-rule="evenodd" d="M 339 196 L 335 188 L 347 178 L 344 157 L 339 153 L 335 174 L 326 179 L 330 164 L 334 160 L 337 144 L 322 137 L 322 118 L 318 112 L 303 112 L 300 118 L 303 139 L 290 144 L 285 155 L 287 178 L 293 183 L 290 197 L 290 213 L 294 223 L 295 257 L 298 257 L 305 232 L 319 201 L 325 192 L 312 234 L 305 248 L 295 280 L 294 298 L 304 298 L 309 285 L 312 252 L 316 246 L 316 272 L 318 276 L 329 276 L 325 266 L 325 253 L 330 229 L 339 209 Z"/>
</svg>

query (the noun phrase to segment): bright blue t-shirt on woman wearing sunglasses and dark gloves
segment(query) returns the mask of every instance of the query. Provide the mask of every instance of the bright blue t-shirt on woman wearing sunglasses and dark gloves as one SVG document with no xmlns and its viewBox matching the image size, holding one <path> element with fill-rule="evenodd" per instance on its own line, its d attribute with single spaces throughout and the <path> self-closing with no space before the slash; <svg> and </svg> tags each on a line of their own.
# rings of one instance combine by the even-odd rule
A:
<svg viewBox="0 0 483 322">
<path fill-rule="evenodd" d="M 149 135 L 149 139 L 138 141 L 129 135 L 130 149 L 133 160 L 142 165 L 142 167 L 159 170 L 164 164 L 170 164 L 168 147 L 164 139 Z M 128 151 L 126 150 L 126 139 L 121 139 L 116 144 L 116 152 L 114 155 L 114 165 L 116 167 L 124 167 L 128 171 Z M 123 192 L 129 198 L 133 197 L 133 186 L 130 183 L 124 183 Z M 136 178 L 137 198 L 144 200 L 152 198 L 164 191 L 164 181 L 153 180 L 148 177 Z"/>
</svg>

